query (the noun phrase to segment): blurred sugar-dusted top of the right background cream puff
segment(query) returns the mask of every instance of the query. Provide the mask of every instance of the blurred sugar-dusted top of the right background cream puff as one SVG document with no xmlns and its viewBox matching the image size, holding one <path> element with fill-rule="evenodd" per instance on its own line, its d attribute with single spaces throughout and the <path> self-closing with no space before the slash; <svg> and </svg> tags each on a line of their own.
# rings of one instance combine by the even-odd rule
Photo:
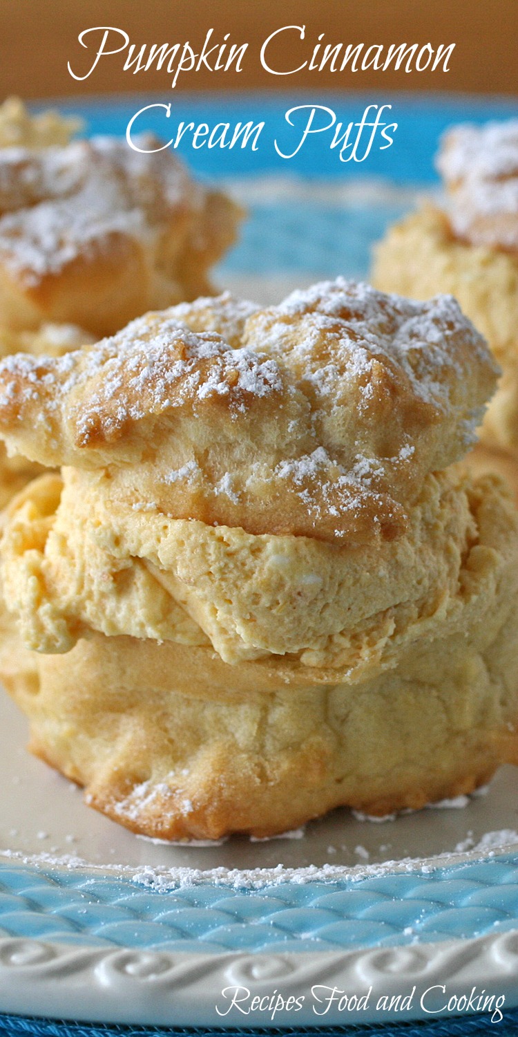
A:
<svg viewBox="0 0 518 1037">
<path fill-rule="evenodd" d="M 518 119 L 455 127 L 442 138 L 437 168 L 454 232 L 518 251 Z"/>
</svg>

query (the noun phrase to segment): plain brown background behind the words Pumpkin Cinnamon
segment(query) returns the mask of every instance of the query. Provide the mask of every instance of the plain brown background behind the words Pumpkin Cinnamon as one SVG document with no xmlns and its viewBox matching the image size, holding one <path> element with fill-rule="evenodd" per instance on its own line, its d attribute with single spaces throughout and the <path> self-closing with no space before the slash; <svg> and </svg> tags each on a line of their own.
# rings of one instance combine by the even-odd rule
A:
<svg viewBox="0 0 518 1037">
<path fill-rule="evenodd" d="M 321 32 L 324 43 L 332 44 L 430 41 L 432 47 L 439 43 L 456 43 L 457 47 L 448 74 L 268 75 L 259 62 L 262 41 L 282 25 L 303 23 L 311 48 L 297 41 L 295 33 L 285 34 L 280 40 L 285 67 L 299 63 L 303 51 L 303 60 L 311 54 Z M 139 47 L 185 39 L 200 46 L 209 27 L 214 28 L 219 41 L 230 32 L 231 41 L 250 44 L 240 75 L 192 73 L 182 77 L 181 89 L 379 89 L 383 85 L 388 89 L 518 93 L 518 0 L 0 0 L 0 96 L 130 90 L 167 93 L 165 73 L 123 73 L 122 55 L 103 58 L 84 82 L 68 75 L 67 60 L 78 71 L 89 67 L 89 52 L 78 43 L 81 30 L 107 24 L 124 29 Z"/>
</svg>

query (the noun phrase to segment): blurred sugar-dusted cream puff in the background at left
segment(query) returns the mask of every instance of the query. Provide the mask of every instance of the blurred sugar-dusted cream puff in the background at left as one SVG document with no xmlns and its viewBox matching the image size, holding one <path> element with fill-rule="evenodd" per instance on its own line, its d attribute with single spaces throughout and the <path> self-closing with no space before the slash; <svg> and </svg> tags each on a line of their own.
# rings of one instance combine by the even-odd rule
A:
<svg viewBox="0 0 518 1037">
<path fill-rule="evenodd" d="M 151 135 L 69 140 L 77 120 L 0 108 L 0 325 L 112 334 L 210 290 L 242 213 Z"/>
</svg>

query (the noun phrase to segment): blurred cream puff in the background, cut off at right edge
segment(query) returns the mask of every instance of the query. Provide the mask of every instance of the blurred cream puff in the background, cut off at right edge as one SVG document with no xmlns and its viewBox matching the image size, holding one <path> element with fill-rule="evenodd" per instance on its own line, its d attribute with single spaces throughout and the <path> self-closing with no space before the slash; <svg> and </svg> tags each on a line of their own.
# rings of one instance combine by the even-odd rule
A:
<svg viewBox="0 0 518 1037">
<path fill-rule="evenodd" d="M 437 168 L 444 201 L 388 230 L 373 282 L 413 299 L 459 300 L 502 368 L 481 438 L 518 457 L 518 120 L 454 128 Z"/>
</svg>

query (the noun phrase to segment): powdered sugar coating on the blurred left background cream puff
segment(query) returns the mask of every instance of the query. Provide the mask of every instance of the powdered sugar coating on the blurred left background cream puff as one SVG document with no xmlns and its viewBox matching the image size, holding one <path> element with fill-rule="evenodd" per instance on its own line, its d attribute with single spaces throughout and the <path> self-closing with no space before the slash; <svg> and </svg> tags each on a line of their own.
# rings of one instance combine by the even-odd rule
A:
<svg viewBox="0 0 518 1037">
<path fill-rule="evenodd" d="M 150 147 L 152 138 L 140 146 Z M 161 220 L 203 192 L 168 153 L 138 153 L 93 137 L 64 147 L 0 149 L 0 256 L 36 285 L 78 257 L 95 258 L 123 235 L 151 247 Z"/>
</svg>

